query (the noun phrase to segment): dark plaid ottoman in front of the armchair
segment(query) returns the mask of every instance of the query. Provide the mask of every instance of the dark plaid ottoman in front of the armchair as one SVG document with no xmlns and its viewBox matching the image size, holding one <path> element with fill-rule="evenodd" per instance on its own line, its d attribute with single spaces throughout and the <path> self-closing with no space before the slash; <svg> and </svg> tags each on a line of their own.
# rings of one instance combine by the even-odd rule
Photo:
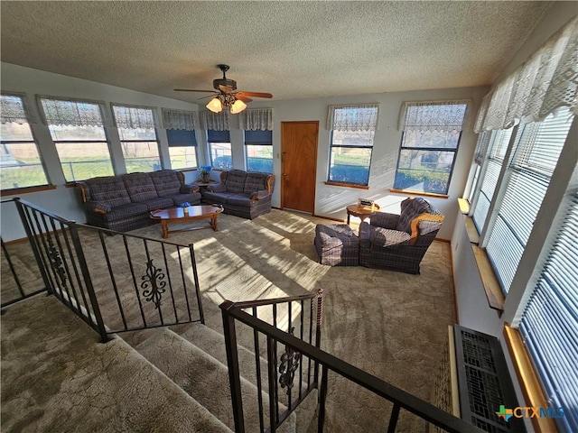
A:
<svg viewBox="0 0 578 433">
<path fill-rule="evenodd" d="M 330 266 L 358 266 L 359 239 L 346 224 L 315 226 L 315 249 L 319 263 Z"/>
</svg>

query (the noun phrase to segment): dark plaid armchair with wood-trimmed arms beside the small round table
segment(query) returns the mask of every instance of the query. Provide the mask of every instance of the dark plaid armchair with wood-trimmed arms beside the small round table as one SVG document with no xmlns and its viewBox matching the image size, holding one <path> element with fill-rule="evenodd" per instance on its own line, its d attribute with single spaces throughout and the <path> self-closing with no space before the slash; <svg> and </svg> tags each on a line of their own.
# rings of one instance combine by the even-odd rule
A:
<svg viewBox="0 0 578 433">
<path fill-rule="evenodd" d="M 359 226 L 359 264 L 367 268 L 419 273 L 443 215 L 424 198 L 406 198 L 401 214 L 377 212 Z"/>
</svg>

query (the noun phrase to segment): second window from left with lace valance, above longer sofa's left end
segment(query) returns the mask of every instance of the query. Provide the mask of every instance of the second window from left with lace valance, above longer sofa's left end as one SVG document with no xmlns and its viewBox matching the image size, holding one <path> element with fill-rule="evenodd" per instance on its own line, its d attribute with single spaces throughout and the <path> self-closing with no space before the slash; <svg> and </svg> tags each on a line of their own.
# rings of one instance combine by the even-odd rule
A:
<svg viewBox="0 0 578 433">
<path fill-rule="evenodd" d="M 98 102 L 40 97 L 44 121 L 51 132 L 67 182 L 114 174 Z"/>
</svg>

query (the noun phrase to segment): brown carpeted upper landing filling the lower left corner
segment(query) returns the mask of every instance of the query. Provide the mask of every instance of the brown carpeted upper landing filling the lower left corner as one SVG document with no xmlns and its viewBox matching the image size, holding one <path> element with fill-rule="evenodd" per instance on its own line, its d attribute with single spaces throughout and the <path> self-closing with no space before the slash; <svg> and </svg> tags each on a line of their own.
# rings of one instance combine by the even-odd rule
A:
<svg viewBox="0 0 578 433">
<path fill-rule="evenodd" d="M 123 339 L 100 343 L 53 296 L 3 313 L 2 431 L 232 433 Z"/>
</svg>

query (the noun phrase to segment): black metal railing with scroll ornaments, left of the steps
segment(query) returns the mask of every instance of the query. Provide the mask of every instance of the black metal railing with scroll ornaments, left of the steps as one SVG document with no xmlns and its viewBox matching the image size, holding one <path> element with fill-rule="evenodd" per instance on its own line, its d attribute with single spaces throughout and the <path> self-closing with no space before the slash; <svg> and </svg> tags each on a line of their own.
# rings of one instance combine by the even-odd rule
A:
<svg viewBox="0 0 578 433">
<path fill-rule="evenodd" d="M 84 226 L 20 198 L 14 203 L 48 292 L 103 342 L 117 332 L 204 324 L 192 244 Z"/>
</svg>

